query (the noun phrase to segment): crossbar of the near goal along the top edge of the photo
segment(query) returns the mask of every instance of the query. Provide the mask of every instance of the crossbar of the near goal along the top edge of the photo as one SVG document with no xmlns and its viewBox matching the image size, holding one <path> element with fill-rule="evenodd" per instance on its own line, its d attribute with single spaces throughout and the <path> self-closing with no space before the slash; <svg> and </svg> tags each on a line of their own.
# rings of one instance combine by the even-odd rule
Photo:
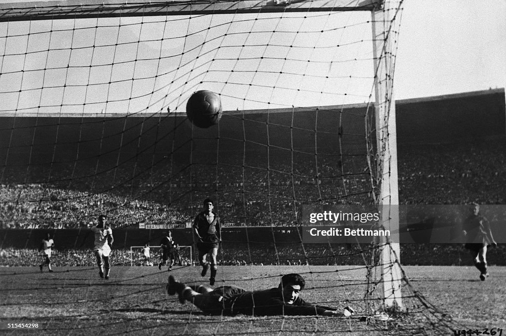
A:
<svg viewBox="0 0 506 336">
<path fill-rule="evenodd" d="M 1 1 L 0 1 L 1 2 Z M 79 0 L 0 3 L 0 22 L 74 18 L 142 17 L 238 13 L 373 11 L 384 0 L 239 0 L 87 2 Z"/>
</svg>

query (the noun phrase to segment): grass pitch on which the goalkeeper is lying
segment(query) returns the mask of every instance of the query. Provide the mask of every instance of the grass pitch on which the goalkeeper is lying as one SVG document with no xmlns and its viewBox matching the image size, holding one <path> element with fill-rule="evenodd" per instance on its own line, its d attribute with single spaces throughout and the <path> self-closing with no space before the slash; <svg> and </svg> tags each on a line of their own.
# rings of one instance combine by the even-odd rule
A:
<svg viewBox="0 0 506 336">
<path fill-rule="evenodd" d="M 404 270 L 414 290 L 452 316 L 451 328 L 506 328 L 506 267 L 490 267 L 491 276 L 484 282 L 472 267 L 406 266 Z M 91 267 L 55 268 L 53 273 L 4 267 L 0 268 L 0 334 L 372 336 L 399 334 L 395 324 L 411 322 L 408 318 L 387 325 L 364 317 L 366 283 L 361 267 L 225 266 L 218 272 L 215 286 L 234 284 L 246 289 L 275 287 L 282 274 L 301 273 L 306 278 L 301 294 L 306 301 L 338 308 L 350 305 L 358 314 L 353 318 L 206 316 L 165 292 L 168 274 L 187 283 L 205 284 L 207 279 L 200 277 L 199 267 L 176 267 L 171 273 L 166 267 L 162 271 L 157 267 L 113 267 L 109 280 L 99 278 L 97 269 Z M 405 301 L 411 312 L 425 309 L 416 298 Z M 38 323 L 39 329 L 9 330 L 7 323 Z M 453 334 L 451 328 L 439 333 Z M 407 334 L 423 331 L 417 328 Z"/>
</svg>

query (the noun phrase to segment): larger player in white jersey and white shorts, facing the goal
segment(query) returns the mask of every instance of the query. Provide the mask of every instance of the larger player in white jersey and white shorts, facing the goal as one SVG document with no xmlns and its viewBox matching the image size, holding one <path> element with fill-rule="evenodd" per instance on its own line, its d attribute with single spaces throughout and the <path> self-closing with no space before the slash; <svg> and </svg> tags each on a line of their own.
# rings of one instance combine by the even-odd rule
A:
<svg viewBox="0 0 506 336">
<path fill-rule="evenodd" d="M 112 236 L 112 229 L 108 226 L 106 222 L 107 216 L 100 215 L 98 217 L 98 224 L 91 228 L 92 232 L 95 234 L 95 257 L 97 258 L 97 266 L 99 269 L 98 274 L 101 278 L 109 279 L 109 271 L 111 270 L 111 265 L 109 263 L 109 255 L 111 254 L 111 246 L 114 242 L 114 237 Z M 111 238 L 109 241 L 109 237 Z"/>
</svg>

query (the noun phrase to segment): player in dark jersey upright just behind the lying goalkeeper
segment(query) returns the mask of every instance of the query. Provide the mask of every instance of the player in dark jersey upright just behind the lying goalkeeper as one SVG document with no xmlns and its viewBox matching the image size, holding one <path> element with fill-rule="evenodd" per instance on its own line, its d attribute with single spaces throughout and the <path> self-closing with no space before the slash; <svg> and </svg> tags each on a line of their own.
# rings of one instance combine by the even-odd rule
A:
<svg viewBox="0 0 506 336">
<path fill-rule="evenodd" d="M 214 203 L 211 199 L 206 198 L 203 201 L 203 211 L 195 217 L 193 221 L 193 232 L 197 237 L 198 260 L 202 265 L 201 276 L 207 274 L 209 265 L 207 265 L 207 254 L 211 259 L 211 275 L 209 284 L 215 284 L 216 272 L 218 264 L 216 256 L 218 255 L 218 246 L 221 242 L 221 224 L 220 218 L 213 213 Z"/>
</svg>

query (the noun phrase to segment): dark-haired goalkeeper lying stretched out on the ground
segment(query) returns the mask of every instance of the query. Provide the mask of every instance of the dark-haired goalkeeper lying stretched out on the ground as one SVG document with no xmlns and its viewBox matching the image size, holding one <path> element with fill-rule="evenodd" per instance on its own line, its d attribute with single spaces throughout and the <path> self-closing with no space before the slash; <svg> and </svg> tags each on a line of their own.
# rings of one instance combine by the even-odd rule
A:
<svg viewBox="0 0 506 336">
<path fill-rule="evenodd" d="M 179 301 L 193 303 L 197 308 L 212 315 L 323 315 L 350 316 L 354 310 L 346 307 L 344 312 L 335 308 L 306 303 L 299 295 L 306 281 L 299 274 L 281 277 L 277 288 L 247 291 L 236 286 L 221 286 L 216 289 L 201 285 L 187 286 L 171 275 L 168 277 L 167 293 L 178 293 Z"/>
</svg>

